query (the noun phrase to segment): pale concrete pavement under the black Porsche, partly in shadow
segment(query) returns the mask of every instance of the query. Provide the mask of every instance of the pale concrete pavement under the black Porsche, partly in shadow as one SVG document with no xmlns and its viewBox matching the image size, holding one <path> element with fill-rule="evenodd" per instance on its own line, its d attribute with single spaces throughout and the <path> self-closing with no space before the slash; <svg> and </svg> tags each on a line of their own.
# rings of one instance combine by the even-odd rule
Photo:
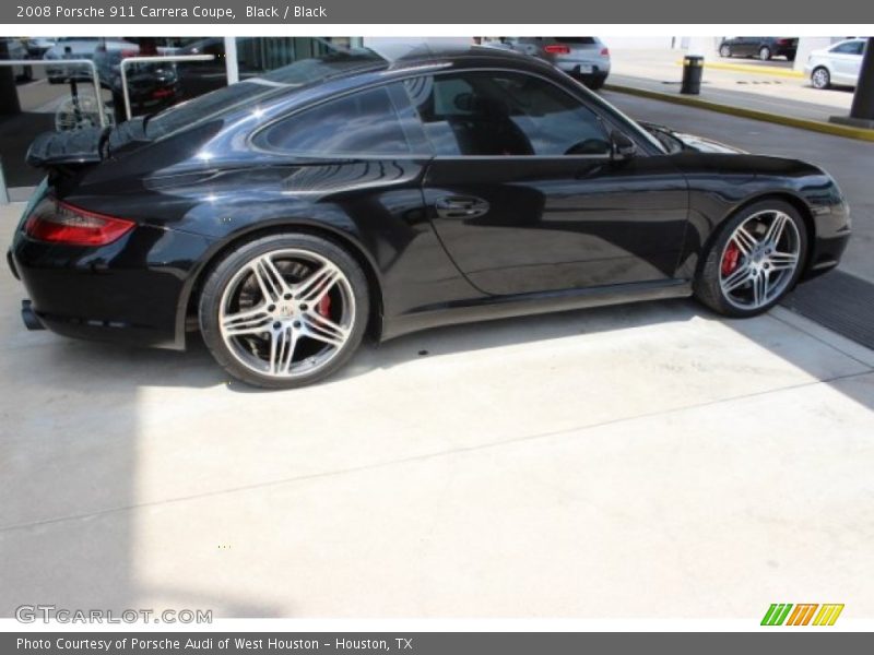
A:
<svg viewBox="0 0 874 655">
<path fill-rule="evenodd" d="M 22 295 L 3 262 L 0 616 L 874 616 L 874 353 L 786 310 L 444 329 L 265 393 Z"/>
</svg>

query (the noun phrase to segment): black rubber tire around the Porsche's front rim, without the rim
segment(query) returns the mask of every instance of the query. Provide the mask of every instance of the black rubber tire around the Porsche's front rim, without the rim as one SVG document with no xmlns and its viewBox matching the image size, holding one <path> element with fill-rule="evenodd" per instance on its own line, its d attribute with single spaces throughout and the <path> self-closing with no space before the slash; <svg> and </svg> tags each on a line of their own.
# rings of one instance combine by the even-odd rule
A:
<svg viewBox="0 0 874 655">
<path fill-rule="evenodd" d="M 720 286 L 720 266 L 722 253 L 725 250 L 728 241 L 731 239 L 735 228 L 744 223 L 751 216 L 766 211 L 782 212 L 794 223 L 800 238 L 800 252 L 798 266 L 793 272 L 789 284 L 784 289 L 772 298 L 768 303 L 756 309 L 743 309 L 729 302 Z M 748 318 L 764 313 L 777 305 L 792 288 L 798 284 L 799 277 L 804 270 L 805 254 L 807 252 L 807 230 L 804 225 L 804 219 L 799 214 L 798 210 L 791 204 L 781 200 L 763 200 L 752 205 L 744 207 L 734 216 L 724 222 L 712 239 L 709 249 L 704 254 L 704 261 L 698 269 L 698 274 L 694 282 L 695 297 L 712 309 L 713 311 L 727 317 L 734 318 Z"/>
</svg>

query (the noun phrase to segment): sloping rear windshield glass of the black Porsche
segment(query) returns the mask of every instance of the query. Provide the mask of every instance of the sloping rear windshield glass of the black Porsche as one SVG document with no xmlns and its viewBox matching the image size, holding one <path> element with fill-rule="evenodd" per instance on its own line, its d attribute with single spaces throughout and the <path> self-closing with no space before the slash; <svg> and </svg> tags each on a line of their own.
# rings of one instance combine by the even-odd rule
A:
<svg viewBox="0 0 874 655">
<path fill-rule="evenodd" d="M 366 48 L 336 50 L 323 57 L 302 59 L 261 78 L 238 82 L 169 107 L 147 119 L 145 135 L 161 139 L 277 93 L 324 82 L 353 71 L 382 68 L 386 63 L 379 55 Z"/>
</svg>

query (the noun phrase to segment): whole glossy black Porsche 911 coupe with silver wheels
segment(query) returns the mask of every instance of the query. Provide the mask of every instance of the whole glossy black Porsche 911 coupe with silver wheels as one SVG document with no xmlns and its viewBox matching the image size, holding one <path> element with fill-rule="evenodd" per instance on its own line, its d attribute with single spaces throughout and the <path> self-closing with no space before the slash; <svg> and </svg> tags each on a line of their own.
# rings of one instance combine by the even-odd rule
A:
<svg viewBox="0 0 874 655">
<path fill-rule="evenodd" d="M 834 267 L 828 174 L 641 126 L 492 48 L 298 61 L 46 134 L 10 264 L 25 323 L 311 383 L 365 335 L 695 295 L 731 317 Z"/>
</svg>

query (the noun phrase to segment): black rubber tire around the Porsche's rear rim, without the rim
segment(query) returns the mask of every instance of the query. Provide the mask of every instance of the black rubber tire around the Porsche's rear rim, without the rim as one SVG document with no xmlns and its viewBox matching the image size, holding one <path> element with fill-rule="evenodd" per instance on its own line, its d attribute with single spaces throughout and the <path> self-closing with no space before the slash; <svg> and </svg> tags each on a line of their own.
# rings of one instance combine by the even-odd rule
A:
<svg viewBox="0 0 874 655">
<path fill-rule="evenodd" d="M 253 258 L 273 250 L 293 248 L 314 252 L 329 260 L 346 276 L 354 296 L 354 322 L 343 346 L 324 366 L 311 373 L 296 378 L 279 378 L 258 372 L 240 362 L 222 337 L 218 315 L 220 303 L 225 287 L 234 275 Z M 361 265 L 342 247 L 307 234 L 274 234 L 241 243 L 228 252 L 206 274 L 198 303 L 200 331 L 212 356 L 232 377 L 264 389 L 294 389 L 312 384 L 336 372 L 357 350 L 367 329 L 370 315 L 370 294 L 367 277 Z"/>
</svg>

